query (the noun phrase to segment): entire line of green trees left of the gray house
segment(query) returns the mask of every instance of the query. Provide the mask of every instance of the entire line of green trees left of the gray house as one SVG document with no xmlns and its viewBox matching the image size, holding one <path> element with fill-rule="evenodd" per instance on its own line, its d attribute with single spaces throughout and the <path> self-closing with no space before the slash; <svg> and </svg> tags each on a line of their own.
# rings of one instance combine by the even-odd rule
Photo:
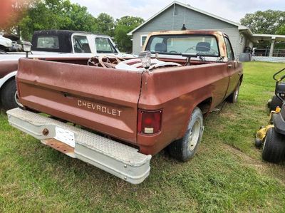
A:
<svg viewBox="0 0 285 213">
<path fill-rule="evenodd" d="M 144 21 L 133 16 L 123 16 L 114 21 L 112 16 L 104 13 L 99 14 L 96 19 L 88 13 L 85 6 L 72 4 L 70 0 L 9 1 L 14 2 L 12 6 L 10 5 L 13 12 L 5 31 L 16 33 L 23 40 L 31 40 L 33 32 L 40 30 L 90 31 L 115 37 L 120 50 L 131 52 L 132 41 L 127 33 Z"/>
</svg>

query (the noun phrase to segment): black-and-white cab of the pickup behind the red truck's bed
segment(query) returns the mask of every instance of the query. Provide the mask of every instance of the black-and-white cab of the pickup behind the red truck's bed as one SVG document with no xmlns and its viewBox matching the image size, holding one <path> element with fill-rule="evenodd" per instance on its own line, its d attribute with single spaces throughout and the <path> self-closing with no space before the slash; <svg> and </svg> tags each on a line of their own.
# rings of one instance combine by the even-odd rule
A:
<svg viewBox="0 0 285 213">
<path fill-rule="evenodd" d="M 33 54 L 72 53 L 76 56 L 95 56 L 100 54 L 121 55 L 110 36 L 81 31 L 36 31 L 33 33 L 31 43 Z"/>
</svg>

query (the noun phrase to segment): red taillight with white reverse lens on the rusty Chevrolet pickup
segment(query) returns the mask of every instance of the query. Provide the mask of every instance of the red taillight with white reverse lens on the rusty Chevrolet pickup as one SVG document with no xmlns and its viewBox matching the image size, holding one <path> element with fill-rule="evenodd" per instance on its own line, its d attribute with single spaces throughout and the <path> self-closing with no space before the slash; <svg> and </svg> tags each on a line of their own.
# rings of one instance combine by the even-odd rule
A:
<svg viewBox="0 0 285 213">
<path fill-rule="evenodd" d="M 152 135 L 161 130 L 162 110 L 138 110 L 138 133 Z"/>
</svg>

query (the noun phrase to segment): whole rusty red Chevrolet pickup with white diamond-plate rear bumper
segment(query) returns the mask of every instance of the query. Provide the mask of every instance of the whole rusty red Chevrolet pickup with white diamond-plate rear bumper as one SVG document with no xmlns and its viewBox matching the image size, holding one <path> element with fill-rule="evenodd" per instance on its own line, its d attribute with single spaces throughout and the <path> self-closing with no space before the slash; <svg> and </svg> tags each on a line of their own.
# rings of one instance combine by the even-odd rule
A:
<svg viewBox="0 0 285 213">
<path fill-rule="evenodd" d="M 138 184 L 167 147 L 185 162 L 197 152 L 203 118 L 237 102 L 242 64 L 219 31 L 150 33 L 139 58 L 21 58 L 23 107 L 9 123 L 43 144 Z M 88 65 L 85 65 L 88 64 Z"/>
</svg>

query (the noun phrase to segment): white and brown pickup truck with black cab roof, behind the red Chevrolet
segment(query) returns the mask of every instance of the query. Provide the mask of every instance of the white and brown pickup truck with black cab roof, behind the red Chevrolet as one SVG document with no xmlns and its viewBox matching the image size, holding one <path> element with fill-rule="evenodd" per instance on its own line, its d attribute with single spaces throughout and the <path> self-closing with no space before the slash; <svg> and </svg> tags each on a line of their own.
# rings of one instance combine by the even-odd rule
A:
<svg viewBox="0 0 285 213">
<path fill-rule="evenodd" d="M 60 58 L 66 63 L 74 59 L 85 63 L 86 58 L 103 55 L 133 58 L 133 55 L 120 53 L 110 36 L 81 31 L 36 31 L 31 44 L 29 58 Z M 0 100 L 6 110 L 19 105 L 15 76 L 19 58 L 25 56 L 25 53 L 0 54 Z"/>
</svg>

